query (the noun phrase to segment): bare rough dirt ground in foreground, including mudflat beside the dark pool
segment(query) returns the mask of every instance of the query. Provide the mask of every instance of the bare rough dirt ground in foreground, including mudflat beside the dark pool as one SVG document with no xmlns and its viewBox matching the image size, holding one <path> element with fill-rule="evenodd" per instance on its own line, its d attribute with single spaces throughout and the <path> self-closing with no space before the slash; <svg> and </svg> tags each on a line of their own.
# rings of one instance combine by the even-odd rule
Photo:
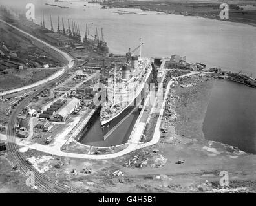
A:
<svg viewBox="0 0 256 206">
<path fill-rule="evenodd" d="M 34 150 L 23 155 L 43 160 L 36 168 L 81 192 L 256 192 L 255 155 L 205 140 L 200 130 L 212 84 L 207 76 L 175 83 L 165 129 L 151 147 L 112 160 L 59 158 Z M 228 175 L 228 186 L 220 185 L 221 173 Z"/>
</svg>

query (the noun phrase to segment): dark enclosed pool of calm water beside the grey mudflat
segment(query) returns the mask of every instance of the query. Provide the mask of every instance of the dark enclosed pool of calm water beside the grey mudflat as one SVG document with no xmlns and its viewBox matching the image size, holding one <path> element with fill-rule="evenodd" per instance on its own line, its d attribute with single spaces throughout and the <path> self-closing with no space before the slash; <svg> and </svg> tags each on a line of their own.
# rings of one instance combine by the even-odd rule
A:
<svg viewBox="0 0 256 206">
<path fill-rule="evenodd" d="M 217 80 L 211 92 L 203 125 L 205 138 L 256 153 L 256 89 Z"/>
</svg>

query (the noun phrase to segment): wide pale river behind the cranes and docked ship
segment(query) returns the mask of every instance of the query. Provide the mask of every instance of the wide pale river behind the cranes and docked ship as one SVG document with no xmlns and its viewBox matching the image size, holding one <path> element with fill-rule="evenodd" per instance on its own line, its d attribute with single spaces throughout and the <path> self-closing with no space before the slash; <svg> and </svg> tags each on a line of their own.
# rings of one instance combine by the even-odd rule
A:
<svg viewBox="0 0 256 206">
<path fill-rule="evenodd" d="M 0 5 L 6 0 L 0 0 Z M 142 12 L 137 9 L 101 9 L 100 5 L 84 2 L 70 4 L 54 3 L 53 0 L 8 0 L 8 4 L 23 8 L 25 3 L 36 5 L 36 23 L 45 14 L 45 24 L 50 28 L 50 17 L 56 30 L 58 15 L 79 22 L 81 34 L 85 33 L 85 23 L 90 25 L 90 33 L 95 26 L 103 26 L 105 40 L 110 52 L 126 53 L 136 48 L 139 37 L 144 41 L 142 54 L 148 57 L 170 56 L 174 53 L 186 55 L 191 62 L 205 62 L 208 66 L 220 66 L 226 70 L 253 73 L 256 77 L 256 28 L 240 23 L 229 23 L 202 17 L 182 15 L 158 15 L 156 12 Z M 69 9 L 47 6 L 45 3 L 69 6 Z M 113 13 L 130 10 L 146 15 Z M 61 27 L 62 28 L 62 27 Z"/>
</svg>

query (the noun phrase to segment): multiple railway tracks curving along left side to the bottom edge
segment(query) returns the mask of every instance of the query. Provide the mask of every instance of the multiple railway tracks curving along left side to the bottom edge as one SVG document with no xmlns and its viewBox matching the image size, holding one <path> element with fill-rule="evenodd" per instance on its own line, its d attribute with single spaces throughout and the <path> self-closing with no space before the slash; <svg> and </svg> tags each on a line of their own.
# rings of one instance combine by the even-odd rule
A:
<svg viewBox="0 0 256 206">
<path fill-rule="evenodd" d="M 77 62 L 75 62 L 74 66 L 75 67 Z M 68 71 L 68 70 L 67 70 Z M 63 75 L 67 74 L 67 71 L 63 73 Z M 32 100 L 34 96 L 36 96 L 38 93 L 43 91 L 43 89 L 47 88 L 48 84 L 52 84 L 53 82 L 56 82 L 57 80 L 61 79 L 63 77 L 58 77 L 58 79 L 54 79 L 50 82 L 48 82 L 46 85 L 41 86 L 37 91 L 35 91 L 32 95 L 30 95 L 28 98 L 25 98 L 23 101 L 20 102 L 20 104 L 17 106 L 16 111 L 12 113 L 10 117 L 10 121 L 8 123 L 8 129 L 7 129 L 7 140 L 8 140 L 8 150 L 14 157 L 14 162 L 16 163 L 17 167 L 21 170 L 22 173 L 31 174 L 31 172 L 34 174 L 34 180 L 35 180 L 35 185 L 42 191 L 42 192 L 47 192 L 47 193 L 59 193 L 59 192 L 80 192 L 75 189 L 72 189 L 68 187 L 67 185 L 63 185 L 58 182 L 54 182 L 47 176 L 39 173 L 32 165 L 29 165 L 25 158 L 19 153 L 18 151 L 18 146 L 16 144 L 16 134 L 14 131 L 14 126 L 16 122 L 16 118 L 21 113 L 22 109 L 25 107 L 25 105 Z M 29 178 L 29 176 L 28 176 Z"/>
</svg>

